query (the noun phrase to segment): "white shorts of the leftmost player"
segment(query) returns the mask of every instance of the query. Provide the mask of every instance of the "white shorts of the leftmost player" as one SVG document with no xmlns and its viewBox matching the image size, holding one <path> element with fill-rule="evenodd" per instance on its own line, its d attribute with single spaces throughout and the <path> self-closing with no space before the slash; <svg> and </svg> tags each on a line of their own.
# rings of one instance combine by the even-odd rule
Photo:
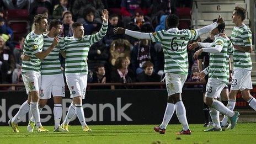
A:
<svg viewBox="0 0 256 144">
<path fill-rule="evenodd" d="M 26 88 L 26 94 L 39 91 L 39 86 L 41 86 L 41 72 L 30 71 L 22 73 L 22 79 Z"/>
</svg>

